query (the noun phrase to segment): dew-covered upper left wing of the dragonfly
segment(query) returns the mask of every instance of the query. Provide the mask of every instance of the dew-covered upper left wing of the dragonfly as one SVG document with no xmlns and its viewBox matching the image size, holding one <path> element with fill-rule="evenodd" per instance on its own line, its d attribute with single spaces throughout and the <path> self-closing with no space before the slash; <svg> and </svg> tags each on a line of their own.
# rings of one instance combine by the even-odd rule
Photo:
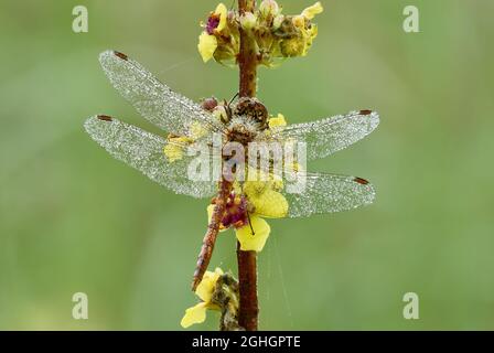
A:
<svg viewBox="0 0 494 353">
<path fill-rule="evenodd" d="M 126 54 L 106 51 L 99 62 L 115 88 L 150 122 L 181 136 L 190 136 L 194 121 L 212 131 L 222 127 L 191 99 L 174 93 Z"/>
</svg>

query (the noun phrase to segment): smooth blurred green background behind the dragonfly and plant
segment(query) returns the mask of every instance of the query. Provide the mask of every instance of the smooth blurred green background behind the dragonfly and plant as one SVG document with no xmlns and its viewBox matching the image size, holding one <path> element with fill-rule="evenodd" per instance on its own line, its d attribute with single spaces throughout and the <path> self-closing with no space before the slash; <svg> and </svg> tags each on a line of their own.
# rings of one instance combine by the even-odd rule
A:
<svg viewBox="0 0 494 353">
<path fill-rule="evenodd" d="M 72 31 L 76 4 L 88 33 Z M 286 13 L 309 4 L 283 1 Z M 310 55 L 261 69 L 259 97 L 291 122 L 378 110 L 369 138 L 311 165 L 367 178 L 378 195 L 354 212 L 271 222 L 260 328 L 494 329 L 494 2 L 323 4 Z M 407 4 L 420 33 L 402 31 Z M 161 189 L 82 126 L 106 113 L 157 132 L 107 82 L 106 49 L 191 98 L 232 97 L 236 71 L 196 52 L 215 6 L 1 0 L 0 329 L 181 329 L 208 201 Z M 236 270 L 233 233 L 212 264 Z M 72 318 L 77 291 L 89 320 Z M 419 320 L 402 318 L 409 291 Z M 216 325 L 210 314 L 194 328 Z"/>
</svg>

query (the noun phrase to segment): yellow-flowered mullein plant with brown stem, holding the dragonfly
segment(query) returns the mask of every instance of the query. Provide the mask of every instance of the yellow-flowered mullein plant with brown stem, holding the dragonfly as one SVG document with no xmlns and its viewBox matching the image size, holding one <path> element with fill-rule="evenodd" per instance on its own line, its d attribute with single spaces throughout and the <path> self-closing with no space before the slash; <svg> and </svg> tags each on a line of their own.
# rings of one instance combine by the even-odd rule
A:
<svg viewBox="0 0 494 353">
<path fill-rule="evenodd" d="M 254 97 L 257 90 L 257 66 L 272 68 L 283 60 L 305 56 L 318 35 L 318 25 L 313 23 L 313 20 L 322 12 L 323 7 L 319 1 L 305 8 L 300 14 L 284 14 L 282 7 L 275 0 L 262 0 L 259 4 L 256 1 L 240 0 L 238 9 L 229 10 L 224 3 L 219 3 L 206 21 L 201 23 L 203 31 L 198 38 L 197 50 L 204 63 L 214 60 L 226 66 L 240 66 L 240 96 Z M 249 45 L 241 45 L 243 41 Z M 246 63 L 246 58 L 250 62 Z M 250 73 L 247 75 L 243 73 L 243 71 L 248 72 L 249 67 Z M 243 88 L 245 92 L 241 92 Z M 222 120 L 226 115 L 227 106 L 212 99 L 205 100 L 203 107 Z M 282 114 L 269 116 L 269 129 L 284 126 L 287 121 Z M 201 132 L 196 137 L 201 137 Z M 187 138 L 172 136 L 171 139 L 180 141 Z M 192 141 L 189 140 L 189 142 Z M 165 147 L 164 153 L 170 159 L 180 159 L 183 150 L 170 143 Z M 298 169 L 297 165 L 294 169 Z M 280 183 L 282 184 L 280 180 L 246 181 L 241 191 L 236 190 L 239 188 L 238 183 L 233 185 L 233 192 L 227 197 L 226 206 L 219 217 L 219 231 L 235 229 L 240 253 L 239 272 L 243 264 L 253 266 L 251 257 L 256 256 L 253 253 L 261 252 L 269 237 L 271 229 L 264 217 L 287 216 L 289 205 L 284 196 L 278 192 L 282 188 Z M 245 212 L 248 205 L 246 199 L 238 196 L 241 194 L 247 196 L 255 212 Z M 207 207 L 210 224 L 215 202 L 216 200 L 213 200 Z M 241 254 L 245 254 L 247 259 L 243 260 Z M 257 269 L 254 268 L 254 277 L 256 271 Z M 251 268 L 250 272 L 253 272 Z M 247 293 L 244 297 L 254 303 L 247 302 L 245 307 L 251 312 L 245 313 L 247 318 L 243 318 L 240 300 L 243 292 L 237 279 L 232 274 L 224 274 L 219 268 L 215 271 L 206 271 L 195 289 L 200 302 L 186 309 L 181 325 L 189 328 L 192 324 L 202 323 L 206 319 L 206 311 L 215 310 L 222 313 L 222 330 L 256 330 L 258 308 L 255 280 L 253 284 L 250 279 L 249 284 L 247 278 L 247 284 L 244 286 L 247 287 L 245 289 Z"/>
</svg>

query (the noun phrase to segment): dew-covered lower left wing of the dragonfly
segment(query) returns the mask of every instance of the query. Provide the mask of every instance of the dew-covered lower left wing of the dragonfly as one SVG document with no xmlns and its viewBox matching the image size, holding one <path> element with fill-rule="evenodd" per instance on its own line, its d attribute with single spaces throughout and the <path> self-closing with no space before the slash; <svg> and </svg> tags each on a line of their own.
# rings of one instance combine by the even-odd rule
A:
<svg viewBox="0 0 494 353">
<path fill-rule="evenodd" d="M 180 160 L 171 161 L 163 152 L 171 142 L 135 126 L 108 116 L 95 116 L 87 119 L 84 127 L 112 157 L 178 194 L 202 199 L 216 193 L 217 185 L 213 181 L 187 178 L 187 167 L 195 157 L 187 156 L 186 145 L 174 143 L 183 148 L 184 153 Z"/>
</svg>

